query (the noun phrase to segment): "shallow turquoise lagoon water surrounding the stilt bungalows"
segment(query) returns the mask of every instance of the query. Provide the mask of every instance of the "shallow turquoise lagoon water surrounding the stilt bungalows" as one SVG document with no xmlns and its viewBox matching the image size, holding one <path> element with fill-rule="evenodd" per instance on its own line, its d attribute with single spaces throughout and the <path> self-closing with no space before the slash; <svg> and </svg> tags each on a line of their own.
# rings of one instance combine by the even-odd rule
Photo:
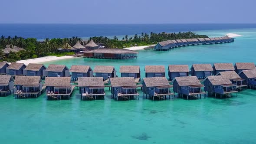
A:
<svg viewBox="0 0 256 144">
<path fill-rule="evenodd" d="M 49 64 L 71 65 L 167 65 L 214 62 L 256 62 L 256 29 L 200 31 L 209 36 L 238 33 L 234 43 L 189 46 L 168 52 L 139 51 L 135 60 L 74 58 Z M 118 72 L 118 75 L 120 73 Z M 108 88 L 105 100 L 81 101 L 78 90 L 70 100 L 46 101 L 0 98 L 2 144 L 255 144 L 256 90 L 237 97 L 166 101 L 143 99 L 115 101 Z"/>
</svg>

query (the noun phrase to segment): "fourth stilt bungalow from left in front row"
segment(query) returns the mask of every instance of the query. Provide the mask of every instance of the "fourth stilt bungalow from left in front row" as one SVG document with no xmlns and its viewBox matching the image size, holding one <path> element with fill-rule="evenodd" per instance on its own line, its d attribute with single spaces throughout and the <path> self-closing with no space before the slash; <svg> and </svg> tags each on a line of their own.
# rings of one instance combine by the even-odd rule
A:
<svg viewBox="0 0 256 144">
<path fill-rule="evenodd" d="M 79 77 L 79 94 L 82 100 L 104 99 L 104 83 L 102 77 Z"/>
</svg>

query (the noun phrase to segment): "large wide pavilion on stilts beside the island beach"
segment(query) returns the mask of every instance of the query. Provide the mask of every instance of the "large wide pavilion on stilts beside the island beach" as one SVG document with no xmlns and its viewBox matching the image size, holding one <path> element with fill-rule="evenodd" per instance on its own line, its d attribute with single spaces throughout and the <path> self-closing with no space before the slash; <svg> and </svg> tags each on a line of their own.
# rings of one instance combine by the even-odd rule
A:
<svg viewBox="0 0 256 144">
<path fill-rule="evenodd" d="M 92 49 L 84 51 L 85 58 L 93 59 L 136 59 L 138 52 L 129 49 Z"/>
</svg>

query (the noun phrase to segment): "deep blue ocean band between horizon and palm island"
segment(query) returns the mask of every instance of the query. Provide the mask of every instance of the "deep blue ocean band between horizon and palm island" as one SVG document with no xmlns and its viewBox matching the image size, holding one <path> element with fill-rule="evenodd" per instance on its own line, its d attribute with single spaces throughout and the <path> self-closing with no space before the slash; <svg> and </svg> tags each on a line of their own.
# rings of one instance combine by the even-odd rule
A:
<svg viewBox="0 0 256 144">
<path fill-rule="evenodd" d="M 69 38 L 78 36 L 118 36 L 141 33 L 184 32 L 256 28 L 256 24 L 0 24 L 0 36 L 24 38 Z"/>
</svg>

